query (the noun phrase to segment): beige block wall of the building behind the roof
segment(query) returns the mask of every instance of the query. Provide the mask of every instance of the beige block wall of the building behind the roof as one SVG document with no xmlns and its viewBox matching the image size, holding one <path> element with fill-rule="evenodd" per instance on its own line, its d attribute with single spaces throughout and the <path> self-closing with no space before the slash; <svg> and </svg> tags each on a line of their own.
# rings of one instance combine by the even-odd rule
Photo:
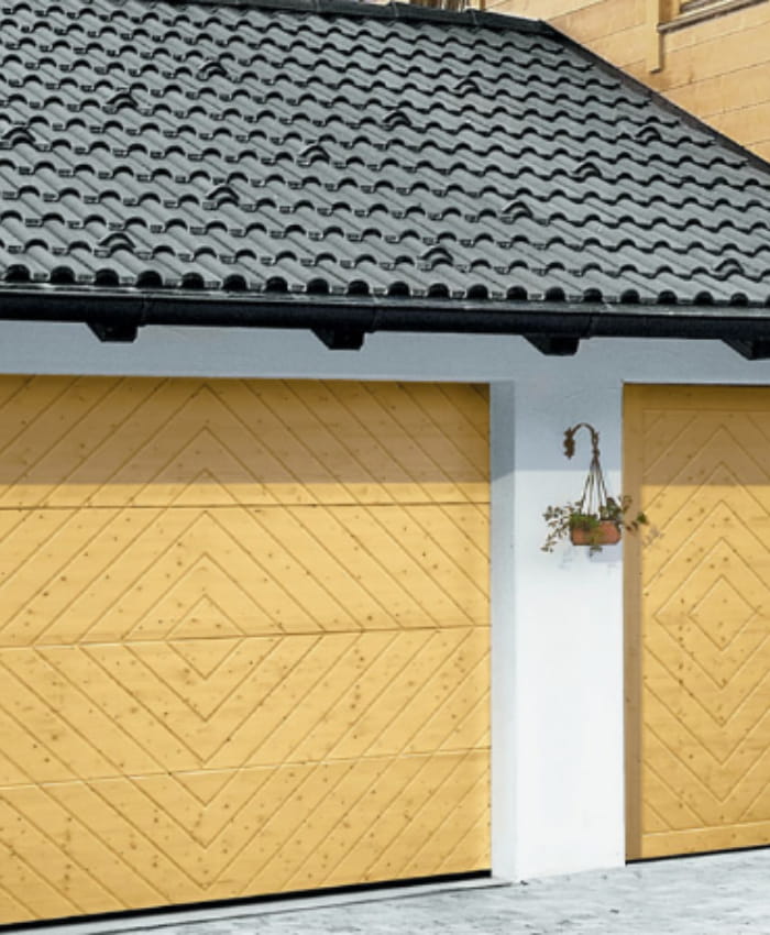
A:
<svg viewBox="0 0 770 935">
<path fill-rule="evenodd" d="M 660 36 L 658 0 L 487 0 L 486 9 L 549 20 L 770 160 L 770 0 L 715 0 L 711 15 Z"/>
</svg>

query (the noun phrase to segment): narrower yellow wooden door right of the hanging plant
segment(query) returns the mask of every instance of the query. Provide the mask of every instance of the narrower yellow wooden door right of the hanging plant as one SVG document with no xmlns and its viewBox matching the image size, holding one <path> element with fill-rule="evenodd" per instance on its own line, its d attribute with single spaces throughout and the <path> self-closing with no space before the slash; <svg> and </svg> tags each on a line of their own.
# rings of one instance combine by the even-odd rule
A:
<svg viewBox="0 0 770 935">
<path fill-rule="evenodd" d="M 770 389 L 631 387 L 630 857 L 770 844 Z"/>
</svg>

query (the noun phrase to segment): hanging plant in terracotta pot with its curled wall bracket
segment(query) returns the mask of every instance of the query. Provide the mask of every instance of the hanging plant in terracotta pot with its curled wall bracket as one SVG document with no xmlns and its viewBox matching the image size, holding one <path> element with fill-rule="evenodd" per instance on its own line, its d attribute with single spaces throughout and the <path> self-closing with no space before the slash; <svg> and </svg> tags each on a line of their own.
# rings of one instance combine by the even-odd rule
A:
<svg viewBox="0 0 770 935">
<path fill-rule="evenodd" d="M 644 513 L 629 517 L 631 498 L 615 498 L 607 492 L 598 450 L 598 432 L 587 422 L 579 422 L 564 432 L 564 454 L 572 458 L 575 453 L 575 433 L 585 428 L 591 432 L 591 463 L 580 499 L 560 506 L 549 506 L 543 513 L 548 526 L 548 537 L 542 544 L 543 552 L 552 552 L 561 539 L 569 539 L 573 546 L 587 546 L 588 551 L 601 552 L 603 546 L 615 546 L 620 541 L 623 530 L 636 531 L 646 524 Z"/>
</svg>

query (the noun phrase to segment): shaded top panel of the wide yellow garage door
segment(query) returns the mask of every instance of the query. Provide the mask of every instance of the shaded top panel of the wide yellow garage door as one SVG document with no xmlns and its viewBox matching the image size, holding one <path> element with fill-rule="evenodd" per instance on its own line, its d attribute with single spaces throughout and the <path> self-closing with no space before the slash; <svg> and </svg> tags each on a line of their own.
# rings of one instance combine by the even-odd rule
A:
<svg viewBox="0 0 770 935">
<path fill-rule="evenodd" d="M 488 391 L 0 378 L 3 506 L 488 502 Z"/>
</svg>

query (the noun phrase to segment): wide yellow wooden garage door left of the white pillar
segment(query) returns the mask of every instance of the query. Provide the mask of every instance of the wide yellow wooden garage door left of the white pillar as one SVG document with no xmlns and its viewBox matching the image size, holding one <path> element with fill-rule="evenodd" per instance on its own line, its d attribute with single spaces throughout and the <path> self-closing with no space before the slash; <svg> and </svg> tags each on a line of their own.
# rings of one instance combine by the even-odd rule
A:
<svg viewBox="0 0 770 935">
<path fill-rule="evenodd" d="M 490 866 L 483 388 L 0 380 L 0 921 Z"/>
</svg>

